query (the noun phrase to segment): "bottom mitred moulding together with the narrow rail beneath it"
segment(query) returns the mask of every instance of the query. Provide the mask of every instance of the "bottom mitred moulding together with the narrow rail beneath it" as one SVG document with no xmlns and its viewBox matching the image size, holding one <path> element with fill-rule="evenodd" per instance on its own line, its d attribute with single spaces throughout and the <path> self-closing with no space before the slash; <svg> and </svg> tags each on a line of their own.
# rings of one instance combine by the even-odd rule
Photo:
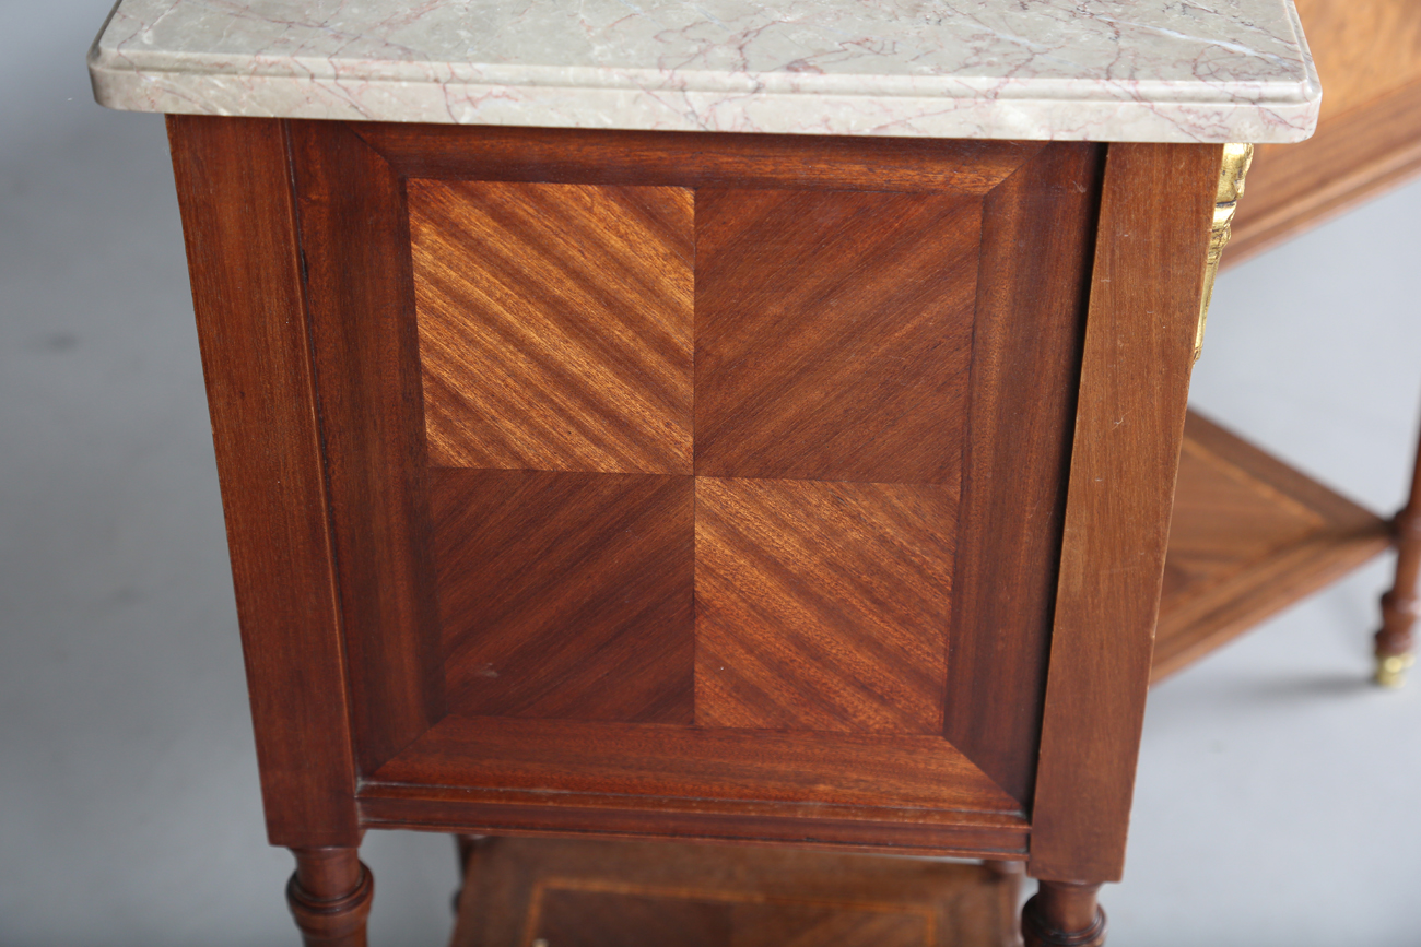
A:
<svg viewBox="0 0 1421 947">
<path fill-rule="evenodd" d="M 932 737 L 452 717 L 367 782 L 362 799 L 367 825 L 976 856 L 1023 853 L 1026 829 L 1015 801 Z"/>
</svg>

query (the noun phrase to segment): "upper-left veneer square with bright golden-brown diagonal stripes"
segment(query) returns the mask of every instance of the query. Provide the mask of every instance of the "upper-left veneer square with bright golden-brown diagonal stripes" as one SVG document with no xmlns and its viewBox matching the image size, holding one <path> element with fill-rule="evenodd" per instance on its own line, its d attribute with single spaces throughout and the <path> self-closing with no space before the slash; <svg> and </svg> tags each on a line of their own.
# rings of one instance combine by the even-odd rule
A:
<svg viewBox="0 0 1421 947">
<path fill-rule="evenodd" d="M 692 196 L 409 182 L 435 466 L 691 473 Z"/>
</svg>

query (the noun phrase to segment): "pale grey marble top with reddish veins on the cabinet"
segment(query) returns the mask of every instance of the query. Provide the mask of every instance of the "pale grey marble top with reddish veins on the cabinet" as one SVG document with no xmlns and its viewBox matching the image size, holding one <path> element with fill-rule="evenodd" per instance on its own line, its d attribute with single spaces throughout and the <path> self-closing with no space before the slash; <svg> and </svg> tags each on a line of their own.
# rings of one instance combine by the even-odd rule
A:
<svg viewBox="0 0 1421 947">
<path fill-rule="evenodd" d="M 121 0 L 111 108 L 666 131 L 1307 138 L 1292 0 Z"/>
</svg>

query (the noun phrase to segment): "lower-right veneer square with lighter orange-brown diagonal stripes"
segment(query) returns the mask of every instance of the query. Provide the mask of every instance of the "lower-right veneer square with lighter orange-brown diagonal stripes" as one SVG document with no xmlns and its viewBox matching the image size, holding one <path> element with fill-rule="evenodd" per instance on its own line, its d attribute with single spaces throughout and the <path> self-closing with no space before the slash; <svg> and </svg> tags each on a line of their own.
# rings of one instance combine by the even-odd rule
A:
<svg viewBox="0 0 1421 947">
<path fill-rule="evenodd" d="M 696 723 L 942 731 L 956 484 L 696 478 Z"/>
</svg>

